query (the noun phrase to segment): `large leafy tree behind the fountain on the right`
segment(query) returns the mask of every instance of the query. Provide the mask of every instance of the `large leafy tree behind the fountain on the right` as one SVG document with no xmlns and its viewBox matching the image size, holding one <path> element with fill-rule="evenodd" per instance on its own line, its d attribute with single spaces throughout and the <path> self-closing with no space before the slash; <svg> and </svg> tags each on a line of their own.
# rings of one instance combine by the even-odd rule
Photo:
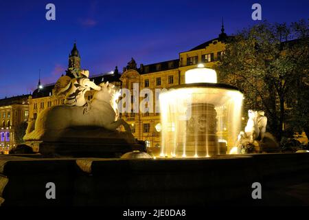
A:
<svg viewBox="0 0 309 220">
<path fill-rule="evenodd" d="M 268 131 L 278 140 L 288 119 L 299 122 L 301 118 L 297 117 L 301 115 L 308 118 L 308 105 L 302 108 L 308 101 L 304 100 L 308 96 L 304 87 L 309 85 L 308 32 L 304 20 L 290 25 L 263 21 L 236 34 L 216 67 L 222 83 L 234 85 L 244 93 L 245 111 L 265 111 Z M 295 103 L 289 111 L 287 102 Z"/>
</svg>

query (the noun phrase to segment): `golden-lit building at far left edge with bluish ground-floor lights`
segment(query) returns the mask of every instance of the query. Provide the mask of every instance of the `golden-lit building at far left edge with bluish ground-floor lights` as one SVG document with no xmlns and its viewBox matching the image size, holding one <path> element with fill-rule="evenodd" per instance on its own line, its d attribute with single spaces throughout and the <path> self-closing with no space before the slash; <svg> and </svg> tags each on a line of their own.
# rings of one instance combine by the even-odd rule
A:
<svg viewBox="0 0 309 220">
<path fill-rule="evenodd" d="M 29 119 L 30 95 L 14 96 L 0 100 L 0 151 L 14 148 L 15 131 L 22 122 Z"/>
</svg>

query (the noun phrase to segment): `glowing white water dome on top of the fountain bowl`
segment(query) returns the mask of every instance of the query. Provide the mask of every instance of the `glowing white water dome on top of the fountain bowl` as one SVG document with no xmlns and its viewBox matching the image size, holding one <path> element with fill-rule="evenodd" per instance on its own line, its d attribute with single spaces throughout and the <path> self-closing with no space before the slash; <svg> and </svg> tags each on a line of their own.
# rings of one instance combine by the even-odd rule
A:
<svg viewBox="0 0 309 220">
<path fill-rule="evenodd" d="M 217 73 L 214 69 L 199 64 L 198 67 L 185 72 L 185 83 L 217 83 Z"/>
</svg>

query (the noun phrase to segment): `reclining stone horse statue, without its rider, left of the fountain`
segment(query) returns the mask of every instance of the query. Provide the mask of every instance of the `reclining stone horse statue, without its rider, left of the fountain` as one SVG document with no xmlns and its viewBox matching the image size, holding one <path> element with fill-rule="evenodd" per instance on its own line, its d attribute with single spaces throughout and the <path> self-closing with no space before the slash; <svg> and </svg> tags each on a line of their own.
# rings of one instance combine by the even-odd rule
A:
<svg viewBox="0 0 309 220">
<path fill-rule="evenodd" d="M 95 91 L 90 107 L 85 113 L 85 107 L 60 105 L 43 110 L 38 118 L 28 125 L 25 141 L 41 140 L 54 142 L 70 133 L 70 137 L 85 135 L 85 137 L 102 137 L 102 134 L 95 134 L 95 129 L 100 129 L 103 135 L 109 133 L 113 136 L 133 138 L 130 126 L 119 118 L 117 100 L 120 96 L 119 90 L 114 85 L 101 83 L 100 91 Z M 125 132 L 119 135 L 116 132 L 119 126 L 123 125 Z M 76 129 L 78 128 L 78 129 Z M 89 128 L 95 128 L 94 130 Z M 73 130 L 72 130 L 73 129 Z M 95 136 L 97 135 L 97 136 Z M 134 139 L 134 138 L 133 138 Z"/>
</svg>

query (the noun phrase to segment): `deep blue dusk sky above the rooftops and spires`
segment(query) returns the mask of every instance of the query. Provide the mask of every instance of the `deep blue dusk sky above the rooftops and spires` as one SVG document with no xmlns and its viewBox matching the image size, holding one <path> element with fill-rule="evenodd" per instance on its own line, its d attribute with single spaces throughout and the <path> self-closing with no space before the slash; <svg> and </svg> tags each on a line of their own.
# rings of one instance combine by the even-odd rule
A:
<svg viewBox="0 0 309 220">
<path fill-rule="evenodd" d="M 56 21 L 47 21 L 47 3 L 56 5 Z M 225 32 L 236 34 L 262 19 L 272 23 L 308 19 L 309 1 L 44 1 L 0 0 L 0 98 L 29 94 L 41 81 L 54 83 L 65 73 L 77 41 L 82 69 L 91 74 L 119 70 L 130 58 L 137 65 L 179 58 Z"/>
</svg>

